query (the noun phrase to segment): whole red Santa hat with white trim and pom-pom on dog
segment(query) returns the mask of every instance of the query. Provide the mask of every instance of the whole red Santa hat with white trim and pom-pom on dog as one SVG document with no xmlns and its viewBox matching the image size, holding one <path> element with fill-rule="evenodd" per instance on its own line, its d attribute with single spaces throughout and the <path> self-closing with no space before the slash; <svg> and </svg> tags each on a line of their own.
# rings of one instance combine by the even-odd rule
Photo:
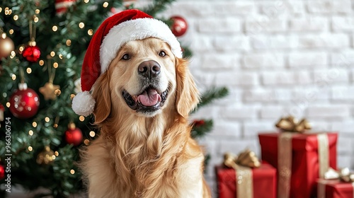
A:
<svg viewBox="0 0 354 198">
<path fill-rule="evenodd" d="M 168 43 L 176 57 L 182 57 L 181 45 L 166 23 L 139 10 L 126 10 L 107 18 L 93 35 L 81 70 L 81 91 L 72 100 L 78 115 L 88 116 L 96 101 L 91 89 L 97 78 L 107 71 L 120 47 L 132 40 L 156 37 Z"/>
</svg>

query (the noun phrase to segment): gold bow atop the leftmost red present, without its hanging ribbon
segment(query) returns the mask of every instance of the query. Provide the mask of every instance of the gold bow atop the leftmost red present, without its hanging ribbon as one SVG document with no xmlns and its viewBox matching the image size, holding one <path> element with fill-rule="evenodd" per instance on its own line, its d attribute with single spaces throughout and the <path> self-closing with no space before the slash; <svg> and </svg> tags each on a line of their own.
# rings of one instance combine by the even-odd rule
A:
<svg viewBox="0 0 354 198">
<path fill-rule="evenodd" d="M 259 162 L 256 153 L 246 149 L 246 151 L 239 153 L 238 156 L 235 156 L 233 153 L 225 153 L 224 165 L 234 169 L 236 169 L 239 165 L 249 168 L 258 168 L 261 166 L 261 163 Z"/>
</svg>

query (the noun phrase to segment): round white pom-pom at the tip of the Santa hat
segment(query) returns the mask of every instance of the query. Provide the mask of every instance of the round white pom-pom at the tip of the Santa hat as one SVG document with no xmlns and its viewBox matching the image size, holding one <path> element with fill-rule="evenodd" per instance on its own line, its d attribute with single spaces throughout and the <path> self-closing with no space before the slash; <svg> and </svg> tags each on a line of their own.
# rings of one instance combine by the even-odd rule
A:
<svg viewBox="0 0 354 198">
<path fill-rule="evenodd" d="M 77 115 L 88 116 L 93 113 L 95 109 L 96 101 L 93 99 L 89 91 L 80 92 L 75 95 L 72 100 L 72 110 L 76 112 Z"/>
</svg>

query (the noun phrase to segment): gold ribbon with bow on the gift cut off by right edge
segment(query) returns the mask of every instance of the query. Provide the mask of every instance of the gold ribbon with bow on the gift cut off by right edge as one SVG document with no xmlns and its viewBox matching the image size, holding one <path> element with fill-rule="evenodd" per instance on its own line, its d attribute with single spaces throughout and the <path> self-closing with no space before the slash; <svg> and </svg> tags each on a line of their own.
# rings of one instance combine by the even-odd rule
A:
<svg viewBox="0 0 354 198">
<path fill-rule="evenodd" d="M 334 170 L 329 168 L 326 173 L 324 173 L 324 179 L 319 180 L 317 185 L 317 197 L 325 198 L 326 197 L 326 185 L 329 183 L 337 182 L 351 182 L 354 192 L 354 173 L 350 173 L 349 168 L 342 168 L 340 170 Z M 354 193 L 353 193 L 354 197 Z"/>
</svg>

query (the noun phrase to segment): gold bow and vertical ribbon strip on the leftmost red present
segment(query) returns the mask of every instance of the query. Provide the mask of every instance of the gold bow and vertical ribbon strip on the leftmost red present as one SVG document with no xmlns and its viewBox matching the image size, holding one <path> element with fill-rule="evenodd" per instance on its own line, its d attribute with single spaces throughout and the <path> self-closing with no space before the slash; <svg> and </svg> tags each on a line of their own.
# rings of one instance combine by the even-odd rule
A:
<svg viewBox="0 0 354 198">
<path fill-rule="evenodd" d="M 238 156 L 232 153 L 224 154 L 224 165 L 234 168 L 236 173 L 236 197 L 253 198 L 252 169 L 261 166 L 253 151 L 243 151 Z"/>
</svg>

